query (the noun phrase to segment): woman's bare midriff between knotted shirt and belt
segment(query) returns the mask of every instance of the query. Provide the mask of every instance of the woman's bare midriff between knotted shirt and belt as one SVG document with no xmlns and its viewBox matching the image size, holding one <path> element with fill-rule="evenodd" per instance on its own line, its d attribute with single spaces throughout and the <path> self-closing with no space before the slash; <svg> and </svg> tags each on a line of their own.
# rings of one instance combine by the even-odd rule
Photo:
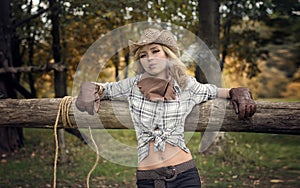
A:
<svg viewBox="0 0 300 188">
<path fill-rule="evenodd" d="M 165 145 L 165 151 L 154 151 L 154 141 L 151 141 L 149 145 L 149 155 L 140 162 L 138 170 L 152 170 L 174 166 L 192 159 L 190 153 L 168 143 Z"/>
</svg>

